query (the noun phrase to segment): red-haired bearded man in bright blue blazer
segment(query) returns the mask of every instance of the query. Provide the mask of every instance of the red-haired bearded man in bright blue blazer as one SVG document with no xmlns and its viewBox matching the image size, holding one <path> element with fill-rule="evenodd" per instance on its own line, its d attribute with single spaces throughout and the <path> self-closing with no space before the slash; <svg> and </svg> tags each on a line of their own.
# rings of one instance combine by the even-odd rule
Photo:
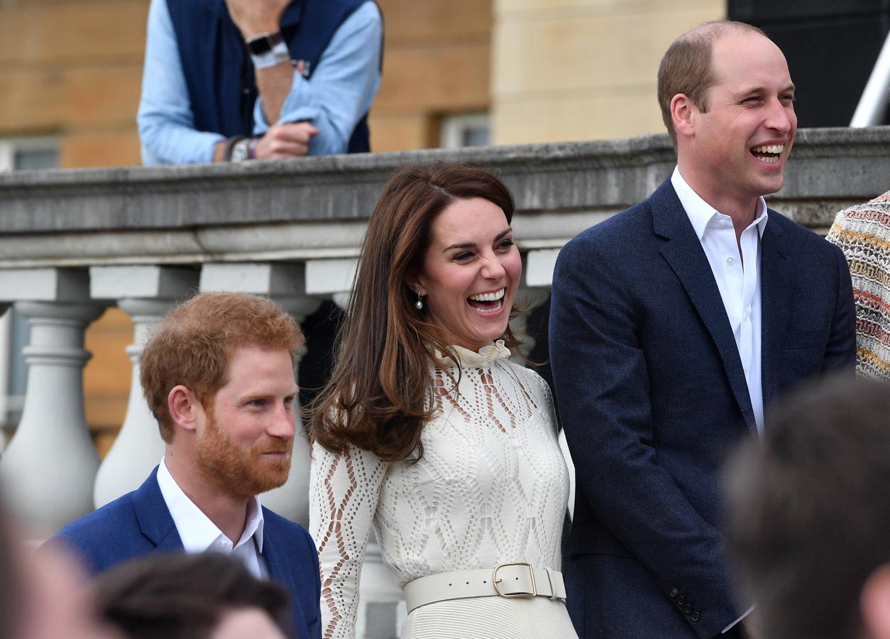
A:
<svg viewBox="0 0 890 639">
<path fill-rule="evenodd" d="M 260 505 L 287 480 L 295 432 L 296 321 L 253 295 L 202 293 L 142 352 L 142 390 L 165 457 L 134 492 L 53 538 L 95 573 L 156 551 L 237 557 L 286 586 L 297 636 L 320 637 L 318 554 L 309 533 Z"/>
</svg>

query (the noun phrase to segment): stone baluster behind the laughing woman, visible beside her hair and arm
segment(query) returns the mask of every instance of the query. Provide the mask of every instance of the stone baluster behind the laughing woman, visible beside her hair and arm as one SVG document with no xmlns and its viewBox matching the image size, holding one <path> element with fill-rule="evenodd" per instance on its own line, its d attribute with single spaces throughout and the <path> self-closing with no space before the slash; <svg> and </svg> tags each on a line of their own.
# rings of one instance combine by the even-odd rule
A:
<svg viewBox="0 0 890 639">
<path fill-rule="evenodd" d="M 355 260 L 315 260 L 306 263 L 306 287 L 313 293 L 331 295 L 334 303 L 347 310 Z M 392 572 L 384 564 L 376 535 L 368 539 L 359 584 L 359 619 L 356 636 L 362 639 L 390 639 L 399 636 L 405 596 Z M 401 611 L 401 613 L 400 613 Z"/>
</svg>

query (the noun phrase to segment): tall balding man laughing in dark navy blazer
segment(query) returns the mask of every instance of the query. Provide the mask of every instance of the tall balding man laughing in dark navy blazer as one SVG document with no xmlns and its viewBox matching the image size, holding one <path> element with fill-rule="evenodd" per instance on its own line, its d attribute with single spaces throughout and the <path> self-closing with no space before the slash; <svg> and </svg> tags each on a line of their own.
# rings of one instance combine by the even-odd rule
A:
<svg viewBox="0 0 890 639">
<path fill-rule="evenodd" d="M 550 356 L 578 477 L 565 578 L 581 636 L 743 636 L 724 457 L 789 387 L 853 370 L 843 255 L 762 197 L 781 189 L 793 99 L 759 29 L 677 38 L 659 68 L 676 171 L 556 263 Z"/>
</svg>

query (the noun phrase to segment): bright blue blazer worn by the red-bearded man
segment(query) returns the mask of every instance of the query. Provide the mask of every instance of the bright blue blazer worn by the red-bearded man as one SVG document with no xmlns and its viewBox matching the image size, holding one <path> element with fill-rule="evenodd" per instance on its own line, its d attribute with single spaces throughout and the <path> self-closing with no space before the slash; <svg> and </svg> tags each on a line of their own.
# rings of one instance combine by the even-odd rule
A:
<svg viewBox="0 0 890 639">
<path fill-rule="evenodd" d="M 69 523 L 51 540 L 81 554 L 97 574 L 155 552 L 182 551 L 182 540 L 158 486 L 158 467 L 142 486 Z M 321 637 L 319 555 L 309 532 L 263 506 L 263 560 L 287 588 L 298 637 Z"/>
</svg>

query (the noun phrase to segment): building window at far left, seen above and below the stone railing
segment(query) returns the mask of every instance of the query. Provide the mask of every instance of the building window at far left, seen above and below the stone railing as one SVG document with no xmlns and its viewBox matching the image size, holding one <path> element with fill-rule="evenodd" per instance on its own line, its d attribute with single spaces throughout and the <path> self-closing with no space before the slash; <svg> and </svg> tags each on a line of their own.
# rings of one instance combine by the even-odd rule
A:
<svg viewBox="0 0 890 639">
<path fill-rule="evenodd" d="M 0 140 L 0 172 L 33 171 L 58 165 L 56 142 L 51 138 Z M 0 427 L 6 433 L 12 433 L 21 417 L 28 377 L 21 350 L 29 339 L 28 322 L 12 308 L 0 316 Z M 3 440 L 0 434 L 0 449 Z"/>
</svg>

